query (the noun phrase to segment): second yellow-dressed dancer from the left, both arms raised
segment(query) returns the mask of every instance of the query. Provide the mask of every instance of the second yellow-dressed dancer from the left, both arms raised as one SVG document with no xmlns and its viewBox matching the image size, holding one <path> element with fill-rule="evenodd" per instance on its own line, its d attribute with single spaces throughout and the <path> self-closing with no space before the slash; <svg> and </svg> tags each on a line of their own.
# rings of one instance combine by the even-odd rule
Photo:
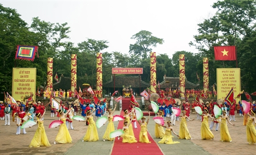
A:
<svg viewBox="0 0 256 155">
<path fill-rule="evenodd" d="M 66 143 L 72 143 L 72 138 L 68 132 L 67 126 L 66 126 L 66 116 L 69 113 L 70 110 L 68 110 L 65 114 L 62 110 L 59 110 L 60 113 L 60 120 L 63 122 L 60 126 L 59 133 L 57 134 L 54 144 L 56 142 L 59 142 L 61 144 Z"/>
</svg>

